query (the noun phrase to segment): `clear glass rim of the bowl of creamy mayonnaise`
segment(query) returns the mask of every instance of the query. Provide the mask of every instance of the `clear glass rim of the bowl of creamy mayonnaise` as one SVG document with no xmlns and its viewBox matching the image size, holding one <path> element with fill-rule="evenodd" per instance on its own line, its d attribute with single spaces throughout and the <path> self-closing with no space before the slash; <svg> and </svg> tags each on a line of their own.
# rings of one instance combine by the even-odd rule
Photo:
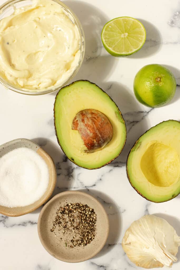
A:
<svg viewBox="0 0 180 270">
<path fill-rule="evenodd" d="M 9 8 L 11 5 L 13 6 L 14 4 L 17 4 L 20 2 L 25 2 L 25 1 L 33 1 L 33 0 L 8 0 L 8 1 L 4 2 L 2 5 L 0 5 L 0 14 L 3 12 L 4 9 Z M 8 88 L 16 93 L 21 93 L 23 95 L 31 95 L 31 96 L 38 96 L 38 95 L 45 95 L 48 93 L 53 93 L 53 92 L 61 89 L 67 83 L 69 83 L 74 78 L 74 76 L 76 76 L 77 72 L 79 71 L 79 69 L 83 63 L 84 54 L 85 54 L 85 35 L 84 35 L 84 30 L 83 30 L 83 27 L 81 25 L 81 22 L 77 18 L 76 14 L 72 11 L 72 9 L 69 8 L 62 1 L 60 1 L 60 0 L 51 0 L 51 1 L 54 1 L 57 4 L 61 5 L 65 9 L 65 11 L 68 12 L 74 19 L 74 22 L 78 28 L 79 35 L 80 35 L 80 59 L 79 59 L 79 62 L 77 64 L 76 68 L 74 69 L 74 72 L 71 74 L 71 76 L 69 78 L 67 78 L 67 80 L 63 84 L 57 85 L 55 87 L 51 87 L 49 89 L 45 88 L 45 89 L 42 89 L 41 91 L 36 91 L 36 92 L 32 91 L 33 89 L 32 90 L 29 89 L 29 91 L 28 91 L 28 89 L 23 90 L 22 88 L 15 87 L 11 83 L 8 83 L 6 80 L 4 80 L 3 78 L 0 77 L 0 84 L 2 86 L 4 86 L 5 88 Z"/>
</svg>

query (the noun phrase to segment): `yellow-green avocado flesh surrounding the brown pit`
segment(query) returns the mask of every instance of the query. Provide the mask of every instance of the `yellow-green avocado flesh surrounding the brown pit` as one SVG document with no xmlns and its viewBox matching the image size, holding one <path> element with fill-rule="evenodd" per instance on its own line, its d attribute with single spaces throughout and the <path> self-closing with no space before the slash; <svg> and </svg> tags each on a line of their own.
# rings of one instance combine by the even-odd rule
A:
<svg viewBox="0 0 180 270">
<path fill-rule="evenodd" d="M 85 153 L 86 146 L 72 122 L 78 112 L 95 109 L 104 113 L 113 126 L 111 141 L 101 150 Z M 113 100 L 97 85 L 76 81 L 63 87 L 56 96 L 54 120 L 57 140 L 66 156 L 80 167 L 95 169 L 110 163 L 122 151 L 126 140 L 123 117 Z"/>
</svg>

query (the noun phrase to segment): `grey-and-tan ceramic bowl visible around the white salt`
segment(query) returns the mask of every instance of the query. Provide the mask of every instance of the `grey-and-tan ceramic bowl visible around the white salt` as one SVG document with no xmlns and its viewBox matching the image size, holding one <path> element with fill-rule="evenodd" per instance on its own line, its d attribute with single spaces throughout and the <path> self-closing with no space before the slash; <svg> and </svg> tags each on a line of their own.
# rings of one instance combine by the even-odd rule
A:
<svg viewBox="0 0 180 270">
<path fill-rule="evenodd" d="M 36 210 L 50 198 L 56 186 L 57 174 L 55 164 L 52 158 L 35 142 L 28 139 L 16 139 L 13 141 L 8 141 L 0 146 L 0 158 L 8 152 L 20 147 L 30 148 L 43 158 L 49 169 L 49 184 L 43 196 L 33 204 L 11 208 L 0 205 L 0 213 L 9 217 L 22 216 Z"/>
</svg>

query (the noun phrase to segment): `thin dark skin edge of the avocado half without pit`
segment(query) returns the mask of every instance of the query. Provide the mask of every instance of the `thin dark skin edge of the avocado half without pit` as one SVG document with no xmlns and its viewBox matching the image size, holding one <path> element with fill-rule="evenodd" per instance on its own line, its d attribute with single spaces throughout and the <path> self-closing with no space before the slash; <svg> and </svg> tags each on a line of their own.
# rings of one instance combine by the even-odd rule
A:
<svg viewBox="0 0 180 270">
<path fill-rule="evenodd" d="M 160 122 L 160 123 L 164 123 L 164 122 L 168 122 L 168 121 L 175 121 L 175 122 L 180 123 L 179 121 L 173 120 L 173 119 L 169 119 L 169 120 L 167 120 L 167 121 L 162 121 L 162 122 Z M 155 125 L 155 126 L 153 126 L 153 127 L 158 126 L 160 123 L 158 123 L 157 125 Z M 150 129 L 148 129 L 148 130 L 150 130 Z M 146 132 L 147 132 L 148 130 L 146 130 Z M 147 201 L 150 201 L 150 202 L 152 202 L 152 203 L 164 203 L 164 202 L 167 202 L 167 201 L 171 201 L 172 199 L 174 199 L 175 197 L 177 197 L 180 193 L 178 193 L 176 196 L 173 196 L 173 197 L 172 197 L 171 199 L 169 199 L 169 200 L 165 200 L 165 201 L 161 201 L 161 202 L 151 201 L 151 200 L 147 199 L 144 195 L 142 195 L 142 194 L 138 191 L 138 189 L 135 188 L 135 187 L 133 186 L 133 184 L 131 183 L 130 176 L 129 176 L 129 173 L 128 173 L 128 158 L 129 158 L 129 156 L 130 156 L 131 151 L 134 149 L 134 147 L 136 146 L 136 144 L 139 142 L 140 138 L 141 138 L 146 132 L 144 132 L 144 133 L 139 137 L 139 139 L 137 139 L 137 141 L 134 143 L 133 147 L 132 147 L 131 150 L 129 151 L 129 154 L 128 154 L 128 156 L 127 156 L 127 161 L 126 161 L 126 174 L 127 174 L 127 178 L 128 178 L 128 180 L 129 180 L 129 183 L 131 184 L 131 186 L 134 188 L 134 190 L 135 190 L 139 195 L 141 195 L 143 198 L 145 198 Z"/>
</svg>

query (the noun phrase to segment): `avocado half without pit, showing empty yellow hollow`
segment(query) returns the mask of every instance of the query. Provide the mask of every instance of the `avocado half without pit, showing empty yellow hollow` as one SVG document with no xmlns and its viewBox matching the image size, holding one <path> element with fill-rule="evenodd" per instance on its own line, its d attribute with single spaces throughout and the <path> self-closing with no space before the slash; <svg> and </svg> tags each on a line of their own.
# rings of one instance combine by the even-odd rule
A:
<svg viewBox="0 0 180 270">
<path fill-rule="evenodd" d="M 168 120 L 144 133 L 127 158 L 127 176 L 144 198 L 155 203 L 180 193 L 180 122 Z"/>
</svg>

